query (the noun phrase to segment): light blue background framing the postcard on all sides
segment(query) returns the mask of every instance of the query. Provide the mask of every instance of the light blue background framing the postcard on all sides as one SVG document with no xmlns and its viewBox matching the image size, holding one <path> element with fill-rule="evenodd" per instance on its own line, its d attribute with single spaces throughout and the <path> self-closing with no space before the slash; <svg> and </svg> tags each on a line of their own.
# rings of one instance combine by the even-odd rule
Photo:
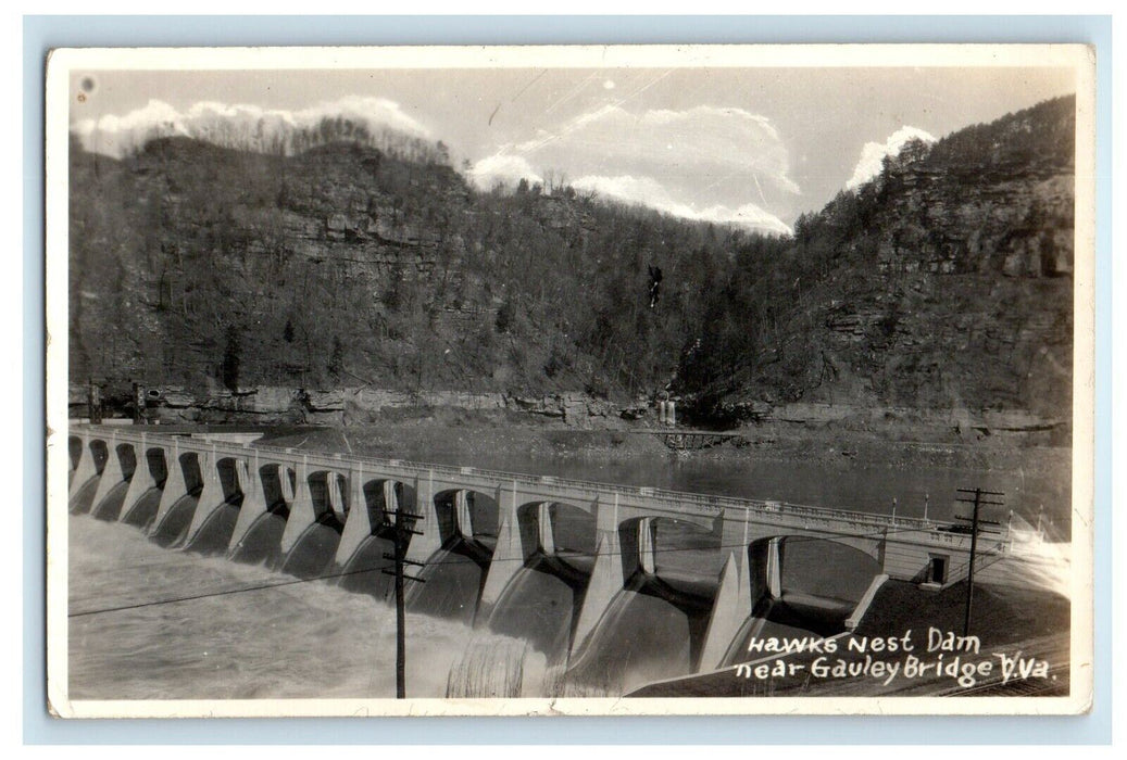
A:
<svg viewBox="0 0 1127 760">
<path fill-rule="evenodd" d="M 1095 708 L 1082 717 L 54 721 L 45 705 L 43 63 L 63 46 L 574 43 L 1090 43 L 1097 46 Z M 24 19 L 24 741 L 71 743 L 1108 743 L 1111 740 L 1109 17 L 26 17 Z"/>
</svg>

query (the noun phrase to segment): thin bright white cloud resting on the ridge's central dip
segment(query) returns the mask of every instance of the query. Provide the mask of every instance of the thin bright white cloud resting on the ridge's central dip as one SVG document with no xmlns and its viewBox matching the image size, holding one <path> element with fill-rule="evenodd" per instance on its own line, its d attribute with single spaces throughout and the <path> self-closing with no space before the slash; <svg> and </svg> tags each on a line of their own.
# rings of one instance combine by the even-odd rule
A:
<svg viewBox="0 0 1127 760">
<path fill-rule="evenodd" d="M 641 204 L 658 211 L 698 222 L 734 224 L 755 232 L 790 234 L 791 229 L 779 217 L 748 203 L 738 208 L 722 204 L 696 209 L 692 205 L 675 200 L 664 185 L 650 177 L 603 177 L 586 176 L 576 179 L 574 187 L 596 193 L 629 204 Z"/>
</svg>

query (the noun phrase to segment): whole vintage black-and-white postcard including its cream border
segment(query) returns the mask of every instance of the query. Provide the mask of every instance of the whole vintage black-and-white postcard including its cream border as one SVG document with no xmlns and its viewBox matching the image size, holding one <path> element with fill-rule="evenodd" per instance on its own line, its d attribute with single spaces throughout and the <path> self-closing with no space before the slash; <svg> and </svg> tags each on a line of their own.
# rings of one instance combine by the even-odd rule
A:
<svg viewBox="0 0 1127 760">
<path fill-rule="evenodd" d="M 1090 708 L 1090 48 L 46 81 L 53 714 Z"/>
</svg>

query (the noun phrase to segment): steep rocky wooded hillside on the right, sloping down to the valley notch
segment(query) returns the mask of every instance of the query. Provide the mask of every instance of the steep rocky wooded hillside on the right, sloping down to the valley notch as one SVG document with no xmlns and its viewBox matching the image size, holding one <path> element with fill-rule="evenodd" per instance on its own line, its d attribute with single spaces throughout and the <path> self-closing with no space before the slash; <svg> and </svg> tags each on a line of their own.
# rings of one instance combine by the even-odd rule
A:
<svg viewBox="0 0 1127 760">
<path fill-rule="evenodd" d="M 748 275 L 728 310 L 762 315 L 735 372 L 691 390 L 745 419 L 755 402 L 1067 419 L 1073 109 L 1063 98 L 921 145 L 799 220 L 779 271 Z"/>
</svg>

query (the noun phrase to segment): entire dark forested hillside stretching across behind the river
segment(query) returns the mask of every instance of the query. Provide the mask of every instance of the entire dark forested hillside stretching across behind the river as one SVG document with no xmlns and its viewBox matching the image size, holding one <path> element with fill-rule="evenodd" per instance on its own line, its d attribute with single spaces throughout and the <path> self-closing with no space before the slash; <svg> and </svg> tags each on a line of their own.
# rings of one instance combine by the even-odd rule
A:
<svg viewBox="0 0 1127 760">
<path fill-rule="evenodd" d="M 1059 415 L 1073 108 L 909 145 L 783 239 L 567 187 L 481 193 L 441 143 L 340 119 L 268 152 L 72 142 L 71 378 Z"/>
</svg>

